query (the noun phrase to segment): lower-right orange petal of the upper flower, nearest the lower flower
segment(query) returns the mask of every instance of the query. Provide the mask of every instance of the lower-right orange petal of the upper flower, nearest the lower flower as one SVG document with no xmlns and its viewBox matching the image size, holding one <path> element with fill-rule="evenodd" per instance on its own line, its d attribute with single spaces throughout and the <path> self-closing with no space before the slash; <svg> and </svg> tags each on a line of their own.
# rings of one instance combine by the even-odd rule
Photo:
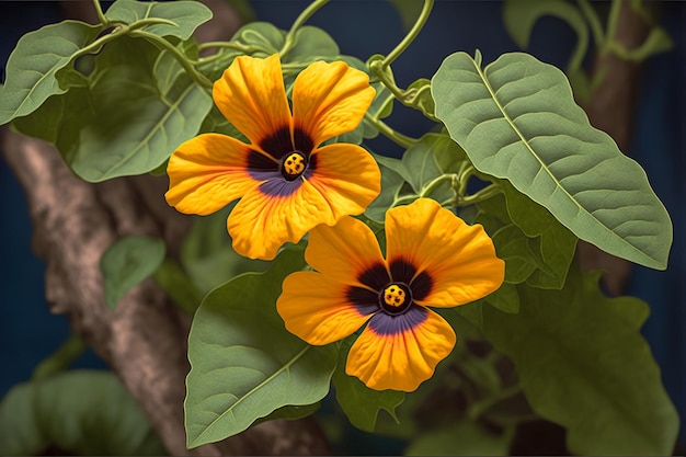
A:
<svg viewBox="0 0 686 457">
<path fill-rule="evenodd" d="M 374 158 L 357 145 L 324 146 L 311 156 L 310 183 L 327 198 L 336 219 L 358 215 L 381 192 L 381 172 Z"/>
</svg>

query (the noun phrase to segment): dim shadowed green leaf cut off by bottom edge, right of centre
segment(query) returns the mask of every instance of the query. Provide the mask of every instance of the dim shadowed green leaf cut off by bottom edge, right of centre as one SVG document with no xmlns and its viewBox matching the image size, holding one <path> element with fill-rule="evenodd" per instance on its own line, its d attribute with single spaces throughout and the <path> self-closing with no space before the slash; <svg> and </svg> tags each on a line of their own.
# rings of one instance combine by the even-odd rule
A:
<svg viewBox="0 0 686 457">
<path fill-rule="evenodd" d="M 507 456 L 514 433 L 495 434 L 478 422 L 457 422 L 421 434 L 405 456 Z"/>
</svg>

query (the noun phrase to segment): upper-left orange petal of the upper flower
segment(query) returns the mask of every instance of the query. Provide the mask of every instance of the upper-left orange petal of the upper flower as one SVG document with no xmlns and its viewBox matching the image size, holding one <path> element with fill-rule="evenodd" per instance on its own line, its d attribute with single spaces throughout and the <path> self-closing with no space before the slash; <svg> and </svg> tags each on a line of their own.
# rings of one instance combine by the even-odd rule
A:
<svg viewBox="0 0 686 457">
<path fill-rule="evenodd" d="M 237 57 L 215 82 L 211 94 L 221 114 L 253 145 L 279 132 L 290 140 L 290 108 L 278 55 Z"/>
</svg>

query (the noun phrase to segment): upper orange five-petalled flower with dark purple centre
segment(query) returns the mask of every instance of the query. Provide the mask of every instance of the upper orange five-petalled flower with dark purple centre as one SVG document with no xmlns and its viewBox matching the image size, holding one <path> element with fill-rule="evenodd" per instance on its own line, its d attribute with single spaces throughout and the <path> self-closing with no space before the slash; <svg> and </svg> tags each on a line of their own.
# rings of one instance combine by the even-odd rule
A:
<svg viewBox="0 0 686 457">
<path fill-rule="evenodd" d="M 359 146 L 331 144 L 353 130 L 375 91 L 343 61 L 302 70 L 288 104 L 277 55 L 237 57 L 215 82 L 217 107 L 248 139 L 203 134 L 169 160 L 167 201 L 208 215 L 240 198 L 227 221 L 236 252 L 272 260 L 319 224 L 362 214 L 380 192 L 380 171 Z"/>
</svg>

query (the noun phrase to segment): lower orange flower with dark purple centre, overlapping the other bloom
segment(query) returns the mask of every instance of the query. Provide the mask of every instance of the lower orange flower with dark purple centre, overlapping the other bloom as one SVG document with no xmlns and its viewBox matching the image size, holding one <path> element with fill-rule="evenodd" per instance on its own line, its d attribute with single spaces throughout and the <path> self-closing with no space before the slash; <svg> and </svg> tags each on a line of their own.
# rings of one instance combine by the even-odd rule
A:
<svg viewBox="0 0 686 457">
<path fill-rule="evenodd" d="M 453 328 L 427 307 L 454 307 L 496 290 L 505 275 L 492 240 L 428 198 L 386 214 L 386 258 L 373 231 L 346 217 L 310 232 L 315 272 L 288 275 L 276 308 L 310 344 L 365 323 L 345 372 L 376 390 L 413 391 L 453 351 Z"/>
</svg>

